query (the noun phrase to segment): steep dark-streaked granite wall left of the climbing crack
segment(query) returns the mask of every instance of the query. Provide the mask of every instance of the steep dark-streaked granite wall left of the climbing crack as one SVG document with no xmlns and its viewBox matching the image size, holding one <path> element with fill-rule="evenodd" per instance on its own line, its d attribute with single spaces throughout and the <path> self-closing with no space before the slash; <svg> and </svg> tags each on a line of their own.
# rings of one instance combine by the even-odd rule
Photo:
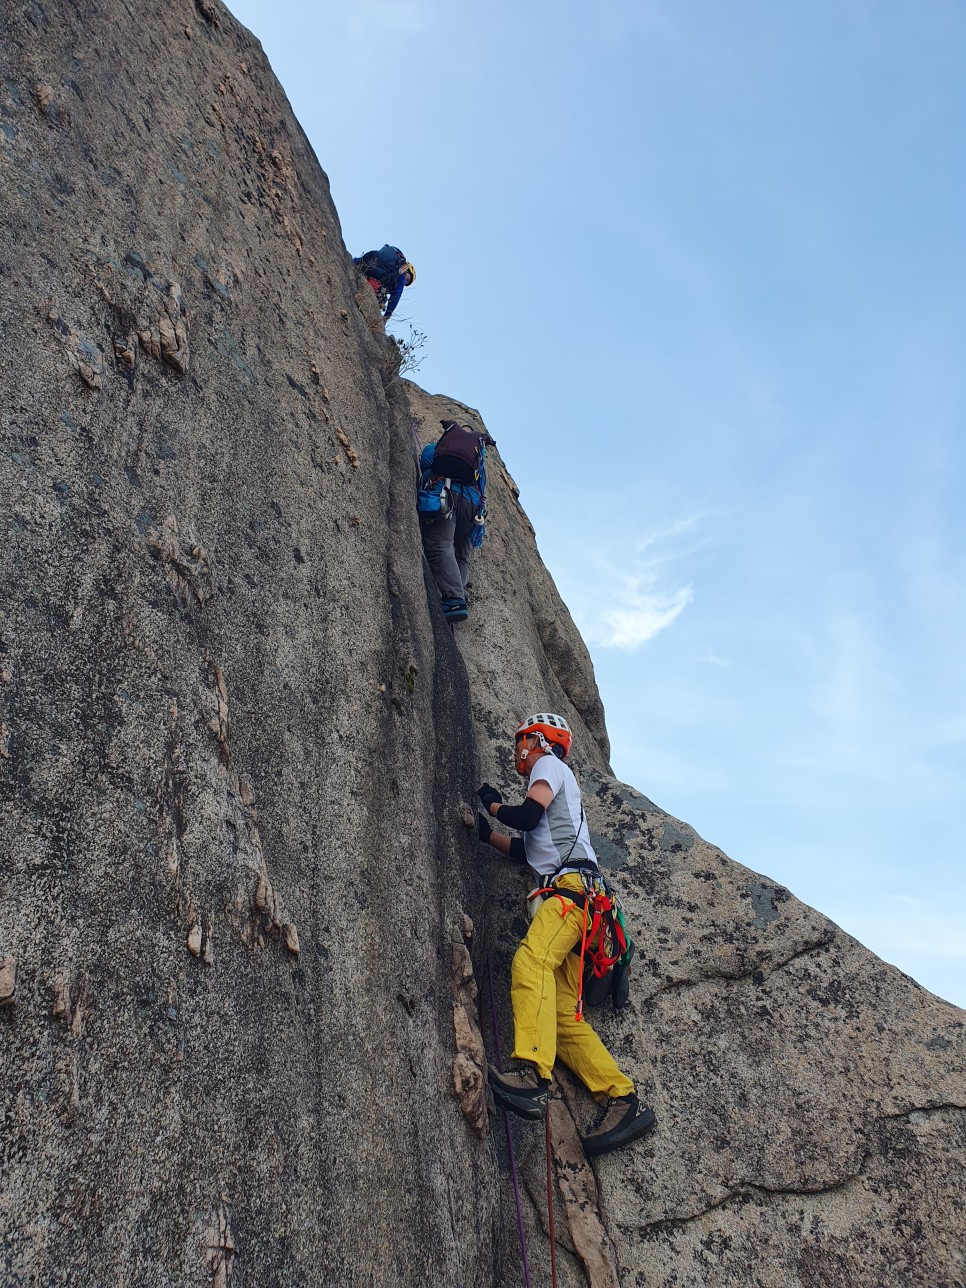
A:
<svg viewBox="0 0 966 1288">
<path fill-rule="evenodd" d="M 216 4 L 3 30 L 0 1280 L 492 1283 L 466 679 L 327 182 Z"/>
</svg>

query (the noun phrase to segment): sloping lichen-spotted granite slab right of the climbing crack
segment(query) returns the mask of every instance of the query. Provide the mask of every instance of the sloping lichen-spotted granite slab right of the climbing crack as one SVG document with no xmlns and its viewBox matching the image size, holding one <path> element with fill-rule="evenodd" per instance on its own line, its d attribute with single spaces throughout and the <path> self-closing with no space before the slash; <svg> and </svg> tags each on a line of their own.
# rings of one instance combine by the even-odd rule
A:
<svg viewBox="0 0 966 1288">
<path fill-rule="evenodd" d="M 482 424 L 452 399 L 407 394 L 424 440 L 444 416 Z M 459 636 L 482 772 L 518 799 L 515 721 L 549 707 L 572 723 L 591 833 L 638 949 L 629 1006 L 591 1021 L 658 1115 L 653 1136 L 590 1164 L 574 1141 L 595 1106 L 560 1074 L 558 1238 L 572 1252 L 560 1283 L 962 1285 L 966 1014 L 613 778 L 586 649 L 502 462 L 489 478 Z M 505 1007 L 526 881 L 486 853 Z M 509 1038 L 506 1009 L 501 1024 Z M 546 1261 L 542 1133 L 516 1137 L 528 1251 Z"/>
</svg>

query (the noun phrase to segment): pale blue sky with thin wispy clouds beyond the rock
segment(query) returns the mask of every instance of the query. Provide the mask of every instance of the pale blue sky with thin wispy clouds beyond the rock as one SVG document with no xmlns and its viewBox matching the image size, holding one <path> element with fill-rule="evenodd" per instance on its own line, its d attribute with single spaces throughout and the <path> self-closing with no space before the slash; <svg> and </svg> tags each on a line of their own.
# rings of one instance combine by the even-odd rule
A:
<svg viewBox="0 0 966 1288">
<path fill-rule="evenodd" d="M 233 12 L 415 263 L 617 774 L 966 1005 L 966 8 Z"/>
</svg>

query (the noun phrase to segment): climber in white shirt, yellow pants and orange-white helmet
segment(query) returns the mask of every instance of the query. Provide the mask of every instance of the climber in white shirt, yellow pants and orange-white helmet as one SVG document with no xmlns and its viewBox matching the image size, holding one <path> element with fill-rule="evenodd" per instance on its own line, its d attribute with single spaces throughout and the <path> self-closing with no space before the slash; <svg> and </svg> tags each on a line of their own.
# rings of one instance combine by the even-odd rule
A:
<svg viewBox="0 0 966 1288">
<path fill-rule="evenodd" d="M 523 721 L 515 739 L 516 773 L 528 782 L 523 804 L 505 805 L 488 783 L 478 795 L 489 817 L 523 837 L 496 832 L 484 818 L 479 837 L 511 860 L 528 863 L 540 886 L 555 893 L 537 907 L 513 960 L 513 1057 L 519 1068 L 500 1073 L 491 1065 L 489 1086 L 501 1108 L 542 1118 L 559 1056 L 603 1106 L 583 1148 L 591 1155 L 604 1154 L 643 1136 L 656 1119 L 590 1024 L 577 1018 L 581 958 L 573 949 L 583 936 L 582 873 L 592 881 L 600 869 L 580 787 L 565 764 L 569 725 L 563 716 L 541 712 Z"/>
</svg>

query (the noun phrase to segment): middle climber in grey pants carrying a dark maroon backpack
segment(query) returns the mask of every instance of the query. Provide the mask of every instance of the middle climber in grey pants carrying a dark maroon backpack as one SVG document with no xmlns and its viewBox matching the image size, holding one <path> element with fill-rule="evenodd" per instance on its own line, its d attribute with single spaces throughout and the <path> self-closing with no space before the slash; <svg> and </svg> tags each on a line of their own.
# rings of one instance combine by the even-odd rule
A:
<svg viewBox="0 0 966 1288">
<path fill-rule="evenodd" d="M 443 600 L 448 622 L 469 616 L 466 587 L 470 553 L 483 545 L 489 434 L 440 420 L 438 442 L 422 448 L 417 509 L 422 549 Z"/>
</svg>

